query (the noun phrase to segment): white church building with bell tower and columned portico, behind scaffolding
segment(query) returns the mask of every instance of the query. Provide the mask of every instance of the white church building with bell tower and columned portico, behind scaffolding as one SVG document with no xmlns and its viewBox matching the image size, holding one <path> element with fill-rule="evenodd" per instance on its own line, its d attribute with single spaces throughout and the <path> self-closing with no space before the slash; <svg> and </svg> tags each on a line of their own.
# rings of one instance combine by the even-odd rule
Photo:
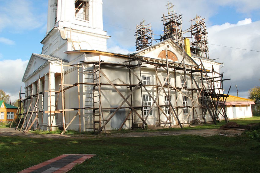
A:
<svg viewBox="0 0 260 173">
<path fill-rule="evenodd" d="M 100 132 L 228 118 L 221 63 L 192 53 L 185 38 L 107 52 L 102 4 L 49 0 L 42 53 L 32 54 L 22 79 L 25 129 Z"/>
</svg>

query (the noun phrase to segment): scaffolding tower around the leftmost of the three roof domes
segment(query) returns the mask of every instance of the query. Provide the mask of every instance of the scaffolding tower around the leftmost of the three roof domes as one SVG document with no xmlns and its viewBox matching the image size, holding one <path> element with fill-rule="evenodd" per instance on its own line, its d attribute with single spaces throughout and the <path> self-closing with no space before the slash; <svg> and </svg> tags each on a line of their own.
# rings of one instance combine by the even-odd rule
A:
<svg viewBox="0 0 260 173">
<path fill-rule="evenodd" d="M 152 35 L 153 30 L 151 29 L 151 24 L 144 24 L 143 20 L 140 25 L 136 25 L 136 50 L 141 50 L 152 45 Z"/>
</svg>

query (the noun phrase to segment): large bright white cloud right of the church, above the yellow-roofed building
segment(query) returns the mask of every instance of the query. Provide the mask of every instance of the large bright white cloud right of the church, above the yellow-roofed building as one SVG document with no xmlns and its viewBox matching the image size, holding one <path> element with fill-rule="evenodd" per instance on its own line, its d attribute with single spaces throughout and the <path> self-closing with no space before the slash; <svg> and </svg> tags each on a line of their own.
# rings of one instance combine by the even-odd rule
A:
<svg viewBox="0 0 260 173">
<path fill-rule="evenodd" d="M 245 19 L 236 24 L 225 23 L 208 28 L 209 43 L 215 44 L 210 45 L 210 57 L 212 59 L 219 58 L 217 61 L 224 63 L 224 67 L 221 68 L 224 72 L 224 78 L 231 78 L 231 80 L 224 82 L 224 88 L 227 90 L 232 85 L 231 92 L 236 93 L 235 85 L 237 85 L 241 93 L 239 96 L 246 97 L 245 95 L 250 88 L 260 86 L 258 63 L 260 54 L 248 51 L 258 51 L 259 27 L 260 21 L 252 23 L 250 19 Z"/>
</svg>

